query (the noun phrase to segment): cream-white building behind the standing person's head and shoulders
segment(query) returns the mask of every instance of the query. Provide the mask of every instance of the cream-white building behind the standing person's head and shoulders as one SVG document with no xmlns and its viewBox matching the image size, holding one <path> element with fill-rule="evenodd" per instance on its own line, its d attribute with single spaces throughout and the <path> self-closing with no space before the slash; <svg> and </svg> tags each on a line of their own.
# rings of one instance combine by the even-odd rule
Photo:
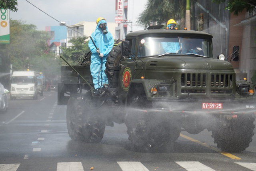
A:
<svg viewBox="0 0 256 171">
<path fill-rule="evenodd" d="M 117 26 L 114 22 L 108 22 L 106 19 L 108 30 L 114 37 L 115 27 Z M 72 46 L 72 43 L 70 42 L 70 39 L 72 38 L 78 38 L 78 37 L 84 37 L 87 36 L 89 40 L 89 36 L 91 36 L 92 32 L 96 29 L 96 19 L 95 22 L 78 22 L 72 26 L 68 26 L 67 28 L 67 45 L 66 47 Z M 114 37 L 115 39 L 115 37 Z"/>
</svg>

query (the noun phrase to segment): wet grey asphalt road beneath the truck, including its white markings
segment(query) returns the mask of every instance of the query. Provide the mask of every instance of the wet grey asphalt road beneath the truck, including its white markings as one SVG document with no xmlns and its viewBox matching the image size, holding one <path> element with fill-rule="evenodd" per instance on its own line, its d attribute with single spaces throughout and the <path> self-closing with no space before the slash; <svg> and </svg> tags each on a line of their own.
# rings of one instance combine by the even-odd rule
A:
<svg viewBox="0 0 256 171">
<path fill-rule="evenodd" d="M 9 101 L 7 113 L 0 113 L 0 171 L 90 169 L 255 171 L 256 135 L 241 153 L 222 153 L 207 130 L 197 135 L 182 132 L 171 153 L 138 153 L 130 148 L 124 124 L 106 127 L 98 144 L 71 140 L 66 128 L 66 106 L 57 105 L 55 91 L 45 92 L 38 100 Z"/>
</svg>

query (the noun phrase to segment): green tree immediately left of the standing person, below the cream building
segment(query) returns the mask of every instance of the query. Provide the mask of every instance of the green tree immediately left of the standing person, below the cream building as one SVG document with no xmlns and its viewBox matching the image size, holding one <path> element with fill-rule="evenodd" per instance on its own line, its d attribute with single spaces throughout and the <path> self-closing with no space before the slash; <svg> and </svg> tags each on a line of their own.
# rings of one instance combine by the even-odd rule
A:
<svg viewBox="0 0 256 171">
<path fill-rule="evenodd" d="M 88 37 L 72 38 L 70 40 L 72 43 L 71 47 L 62 47 L 62 57 L 64 57 L 70 64 L 76 65 L 78 63 L 76 57 L 77 54 L 90 51 L 90 48 L 88 47 L 89 41 L 86 41 L 86 39 L 88 39 Z M 64 64 L 64 62 L 62 62 L 62 64 Z"/>
</svg>

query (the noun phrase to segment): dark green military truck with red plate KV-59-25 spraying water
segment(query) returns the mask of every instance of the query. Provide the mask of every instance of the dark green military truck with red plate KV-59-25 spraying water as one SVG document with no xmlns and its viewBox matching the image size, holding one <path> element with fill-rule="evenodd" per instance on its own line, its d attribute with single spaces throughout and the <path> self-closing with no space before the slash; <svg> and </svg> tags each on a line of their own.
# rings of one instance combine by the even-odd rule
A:
<svg viewBox="0 0 256 171">
<path fill-rule="evenodd" d="M 58 105 L 67 105 L 71 139 L 102 140 L 106 126 L 125 123 L 131 147 L 170 149 L 181 131 L 212 131 L 223 151 L 245 150 L 254 135 L 256 89 L 236 80 L 229 59 L 213 56 L 212 35 L 150 26 L 130 32 L 106 62 L 109 84 L 94 93 L 90 52 L 61 67 Z M 225 59 L 226 58 L 226 59 Z"/>
</svg>

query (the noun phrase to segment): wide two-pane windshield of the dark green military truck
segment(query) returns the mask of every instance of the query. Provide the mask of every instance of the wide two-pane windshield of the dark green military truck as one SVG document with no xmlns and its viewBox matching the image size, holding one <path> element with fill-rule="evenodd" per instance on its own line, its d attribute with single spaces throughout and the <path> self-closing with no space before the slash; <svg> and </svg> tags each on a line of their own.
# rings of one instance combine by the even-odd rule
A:
<svg viewBox="0 0 256 171">
<path fill-rule="evenodd" d="M 181 48 L 180 48 L 181 46 Z M 210 38 L 146 37 L 138 44 L 138 57 L 158 56 L 165 53 L 178 55 L 198 54 L 213 58 Z"/>
</svg>

